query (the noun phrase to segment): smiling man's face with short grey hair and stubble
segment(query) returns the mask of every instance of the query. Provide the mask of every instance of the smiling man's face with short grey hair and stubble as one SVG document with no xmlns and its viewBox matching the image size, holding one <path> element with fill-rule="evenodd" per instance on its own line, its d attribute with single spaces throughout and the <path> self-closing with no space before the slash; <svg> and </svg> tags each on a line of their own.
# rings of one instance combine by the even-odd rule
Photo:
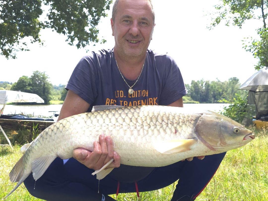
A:
<svg viewBox="0 0 268 201">
<path fill-rule="evenodd" d="M 150 3 L 144 0 L 118 2 L 111 27 L 115 39 L 115 51 L 120 55 L 137 57 L 144 55 L 154 30 Z"/>
</svg>

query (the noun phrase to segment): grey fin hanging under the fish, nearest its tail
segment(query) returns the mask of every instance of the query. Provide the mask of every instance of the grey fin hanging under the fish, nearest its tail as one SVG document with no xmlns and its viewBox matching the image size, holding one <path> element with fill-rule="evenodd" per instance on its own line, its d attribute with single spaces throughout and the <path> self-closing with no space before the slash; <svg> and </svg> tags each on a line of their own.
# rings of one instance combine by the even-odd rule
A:
<svg viewBox="0 0 268 201">
<path fill-rule="evenodd" d="M 33 178 L 38 180 L 57 156 L 43 156 L 32 162 Z"/>
</svg>

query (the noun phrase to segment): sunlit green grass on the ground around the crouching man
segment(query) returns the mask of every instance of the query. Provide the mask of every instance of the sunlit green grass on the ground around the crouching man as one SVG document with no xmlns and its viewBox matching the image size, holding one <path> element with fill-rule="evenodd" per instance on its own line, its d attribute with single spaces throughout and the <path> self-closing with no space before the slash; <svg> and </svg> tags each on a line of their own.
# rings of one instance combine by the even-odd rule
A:
<svg viewBox="0 0 268 201">
<path fill-rule="evenodd" d="M 244 147 L 227 152 L 217 173 L 196 201 L 268 200 L 268 131 L 253 130 L 256 134 L 255 140 Z M 14 146 L 14 150 L 10 147 L 0 147 L 0 199 L 15 186 L 9 181 L 8 174 L 22 155 L 19 148 L 18 145 Z M 141 192 L 140 200 L 170 200 L 176 183 L 156 191 Z M 116 198 L 115 195 L 111 196 Z M 32 197 L 21 184 L 6 200 L 40 201 L 41 199 Z M 117 200 L 138 201 L 138 198 L 136 193 L 125 193 L 119 194 Z"/>
</svg>

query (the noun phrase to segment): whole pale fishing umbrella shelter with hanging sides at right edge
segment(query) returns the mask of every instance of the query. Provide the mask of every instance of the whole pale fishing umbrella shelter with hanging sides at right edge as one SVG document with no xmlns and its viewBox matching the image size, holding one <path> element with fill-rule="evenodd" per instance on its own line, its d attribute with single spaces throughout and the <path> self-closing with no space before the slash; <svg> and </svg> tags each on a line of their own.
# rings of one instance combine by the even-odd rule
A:
<svg viewBox="0 0 268 201">
<path fill-rule="evenodd" d="M 239 89 L 249 90 L 247 111 L 242 124 L 252 124 L 253 115 L 256 115 L 256 119 L 268 115 L 268 67 L 254 73 Z"/>
</svg>

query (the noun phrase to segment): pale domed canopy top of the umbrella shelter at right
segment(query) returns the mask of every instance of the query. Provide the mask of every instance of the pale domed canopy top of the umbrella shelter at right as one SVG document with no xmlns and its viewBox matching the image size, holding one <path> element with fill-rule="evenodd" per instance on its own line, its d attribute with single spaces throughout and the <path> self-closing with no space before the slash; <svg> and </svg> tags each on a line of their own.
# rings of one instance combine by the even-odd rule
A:
<svg viewBox="0 0 268 201">
<path fill-rule="evenodd" d="M 268 67 L 252 75 L 239 89 L 254 92 L 268 91 Z"/>
</svg>

